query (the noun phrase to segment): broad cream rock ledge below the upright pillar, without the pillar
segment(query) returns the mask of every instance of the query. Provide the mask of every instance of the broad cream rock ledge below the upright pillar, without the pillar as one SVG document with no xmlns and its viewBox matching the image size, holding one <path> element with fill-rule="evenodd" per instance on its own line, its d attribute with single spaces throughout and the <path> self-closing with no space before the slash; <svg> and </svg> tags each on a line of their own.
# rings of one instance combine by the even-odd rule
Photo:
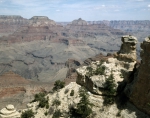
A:
<svg viewBox="0 0 150 118">
<path fill-rule="evenodd" d="M 116 58 L 108 58 L 106 62 L 92 62 L 89 66 L 83 66 L 77 69 L 78 77 L 76 82 L 85 86 L 90 92 L 107 95 L 106 80 L 112 74 L 116 84 L 123 80 L 128 81 L 128 73 L 132 71 L 135 62 L 125 63 Z M 103 74 L 95 73 L 103 69 Z M 101 72 L 100 72 L 101 73 Z"/>
</svg>

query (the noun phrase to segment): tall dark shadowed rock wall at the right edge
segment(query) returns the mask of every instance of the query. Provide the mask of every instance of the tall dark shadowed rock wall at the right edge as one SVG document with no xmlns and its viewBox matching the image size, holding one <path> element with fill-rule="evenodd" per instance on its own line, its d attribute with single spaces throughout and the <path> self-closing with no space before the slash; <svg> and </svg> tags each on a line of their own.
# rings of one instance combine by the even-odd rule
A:
<svg viewBox="0 0 150 118">
<path fill-rule="evenodd" d="M 141 43 L 141 65 L 132 86 L 130 100 L 141 110 L 150 114 L 150 37 Z"/>
</svg>

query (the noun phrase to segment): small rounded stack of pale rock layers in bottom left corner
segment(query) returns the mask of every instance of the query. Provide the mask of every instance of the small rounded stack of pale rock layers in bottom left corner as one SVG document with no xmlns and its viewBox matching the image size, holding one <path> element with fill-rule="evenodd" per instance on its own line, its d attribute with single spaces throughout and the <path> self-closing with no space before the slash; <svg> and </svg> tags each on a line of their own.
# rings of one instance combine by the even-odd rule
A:
<svg viewBox="0 0 150 118">
<path fill-rule="evenodd" d="M 0 118 L 19 118 L 20 114 L 13 105 L 9 104 L 0 111 Z"/>
</svg>

